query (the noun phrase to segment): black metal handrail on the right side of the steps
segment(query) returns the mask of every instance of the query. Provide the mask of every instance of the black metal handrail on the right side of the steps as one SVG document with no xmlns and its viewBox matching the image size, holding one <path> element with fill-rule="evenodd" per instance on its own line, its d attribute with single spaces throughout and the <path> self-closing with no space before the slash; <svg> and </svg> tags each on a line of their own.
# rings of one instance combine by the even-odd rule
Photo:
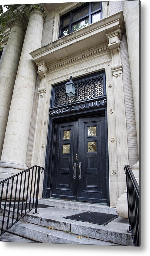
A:
<svg viewBox="0 0 150 256">
<path fill-rule="evenodd" d="M 125 165 L 129 231 L 134 246 L 140 246 L 140 189 L 129 165 Z"/>
</svg>

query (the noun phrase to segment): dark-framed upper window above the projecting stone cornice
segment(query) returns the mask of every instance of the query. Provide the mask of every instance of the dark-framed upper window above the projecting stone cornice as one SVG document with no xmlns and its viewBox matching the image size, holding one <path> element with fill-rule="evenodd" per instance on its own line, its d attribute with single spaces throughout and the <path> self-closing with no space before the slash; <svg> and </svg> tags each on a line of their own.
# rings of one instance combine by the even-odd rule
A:
<svg viewBox="0 0 150 256">
<path fill-rule="evenodd" d="M 59 37 L 66 36 L 100 19 L 102 19 L 102 3 L 86 3 L 61 16 Z"/>
</svg>

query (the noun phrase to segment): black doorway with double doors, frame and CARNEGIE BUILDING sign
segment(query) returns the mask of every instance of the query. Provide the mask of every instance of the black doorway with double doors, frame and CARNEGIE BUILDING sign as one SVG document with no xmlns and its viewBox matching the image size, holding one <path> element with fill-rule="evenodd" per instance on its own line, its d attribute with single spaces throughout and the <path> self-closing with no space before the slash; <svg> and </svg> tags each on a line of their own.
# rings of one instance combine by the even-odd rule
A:
<svg viewBox="0 0 150 256">
<path fill-rule="evenodd" d="M 96 78 L 92 79 L 95 79 L 96 86 Z M 81 103 L 74 100 L 55 106 L 51 99 L 43 198 L 95 202 L 109 206 L 105 83 L 103 88 L 103 95 L 81 100 Z M 59 97 L 62 93 L 59 91 Z"/>
</svg>

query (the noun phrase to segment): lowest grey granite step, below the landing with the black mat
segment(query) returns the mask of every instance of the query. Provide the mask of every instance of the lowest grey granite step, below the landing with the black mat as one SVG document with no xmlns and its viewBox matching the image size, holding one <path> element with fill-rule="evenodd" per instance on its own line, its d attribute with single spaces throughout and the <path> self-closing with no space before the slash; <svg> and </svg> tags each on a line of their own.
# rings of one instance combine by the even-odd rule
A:
<svg viewBox="0 0 150 256">
<path fill-rule="evenodd" d="M 97 239 L 91 239 L 90 237 L 86 237 L 86 236 L 79 237 L 77 234 L 71 234 L 69 232 L 64 232 L 64 231 L 55 230 L 55 229 L 52 230 L 52 229 L 49 229 L 48 227 L 43 227 L 43 226 L 39 226 L 32 223 L 26 223 L 21 220 L 15 223 L 15 225 L 9 229 L 9 232 L 15 233 L 22 237 L 18 238 L 14 234 L 11 234 L 11 233 L 8 234 L 7 232 L 8 238 L 5 238 L 6 235 L 4 233 L 3 234 L 4 237 L 2 237 L 2 241 L 6 241 L 6 240 L 18 241 L 17 239 L 20 239 L 20 242 L 32 242 L 31 240 L 33 240 L 34 238 L 35 241 L 41 242 L 41 243 L 118 245 L 119 246 L 119 244 L 97 240 Z"/>
</svg>

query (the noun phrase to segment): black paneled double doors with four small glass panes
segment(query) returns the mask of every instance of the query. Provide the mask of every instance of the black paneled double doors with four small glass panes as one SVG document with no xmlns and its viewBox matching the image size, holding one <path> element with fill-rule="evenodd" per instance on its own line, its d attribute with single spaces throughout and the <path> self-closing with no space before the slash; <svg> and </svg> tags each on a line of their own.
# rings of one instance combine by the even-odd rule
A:
<svg viewBox="0 0 150 256">
<path fill-rule="evenodd" d="M 51 197 L 107 203 L 105 117 L 56 124 Z"/>
</svg>

